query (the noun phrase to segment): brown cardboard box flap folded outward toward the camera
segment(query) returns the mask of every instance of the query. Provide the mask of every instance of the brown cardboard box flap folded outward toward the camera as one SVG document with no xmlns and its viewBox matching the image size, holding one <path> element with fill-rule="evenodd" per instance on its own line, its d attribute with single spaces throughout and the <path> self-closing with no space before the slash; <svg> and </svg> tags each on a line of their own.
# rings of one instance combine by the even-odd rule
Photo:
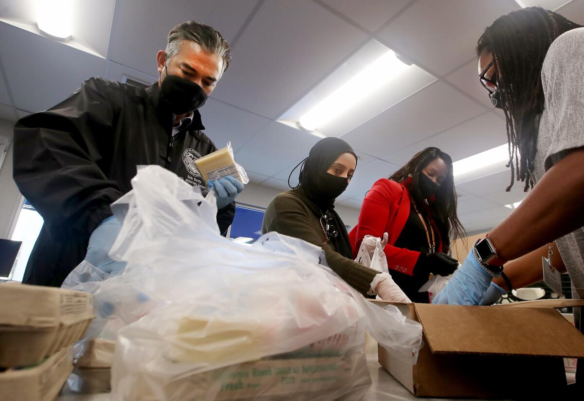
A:
<svg viewBox="0 0 584 401">
<path fill-rule="evenodd" d="M 414 304 L 433 353 L 584 357 L 584 336 L 555 309 Z"/>
</svg>

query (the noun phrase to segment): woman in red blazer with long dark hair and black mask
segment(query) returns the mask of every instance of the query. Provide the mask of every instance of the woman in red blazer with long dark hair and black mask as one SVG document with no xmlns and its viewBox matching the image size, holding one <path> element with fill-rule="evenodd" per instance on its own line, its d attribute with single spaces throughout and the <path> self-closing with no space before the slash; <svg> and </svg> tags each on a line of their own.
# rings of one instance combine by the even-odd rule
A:
<svg viewBox="0 0 584 401">
<path fill-rule="evenodd" d="M 447 255 L 450 233 L 464 232 L 456 214 L 452 159 L 438 148 L 426 148 L 367 192 L 359 223 L 349 233 L 356 256 L 364 236 L 383 238 L 395 283 L 413 302 L 429 302 L 419 288 L 431 274 L 448 276 L 458 261 Z"/>
</svg>

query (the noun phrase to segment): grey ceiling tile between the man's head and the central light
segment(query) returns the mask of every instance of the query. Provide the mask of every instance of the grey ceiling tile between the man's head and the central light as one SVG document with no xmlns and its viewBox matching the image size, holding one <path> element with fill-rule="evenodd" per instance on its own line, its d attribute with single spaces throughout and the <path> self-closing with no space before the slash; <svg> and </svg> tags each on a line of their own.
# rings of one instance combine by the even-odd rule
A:
<svg viewBox="0 0 584 401">
<path fill-rule="evenodd" d="M 310 0 L 267 1 L 237 42 L 213 96 L 276 118 L 365 39 Z"/>
</svg>

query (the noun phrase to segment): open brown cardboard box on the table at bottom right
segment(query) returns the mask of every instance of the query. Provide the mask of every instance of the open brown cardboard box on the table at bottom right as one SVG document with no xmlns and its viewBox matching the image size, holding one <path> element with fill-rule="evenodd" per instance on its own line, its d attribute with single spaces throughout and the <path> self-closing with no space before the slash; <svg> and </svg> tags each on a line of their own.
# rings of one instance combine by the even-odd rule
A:
<svg viewBox="0 0 584 401">
<path fill-rule="evenodd" d="M 563 358 L 584 356 L 584 336 L 545 303 L 397 305 L 422 323 L 424 345 L 415 365 L 381 346 L 379 362 L 416 396 L 557 395 L 566 386 Z"/>
</svg>

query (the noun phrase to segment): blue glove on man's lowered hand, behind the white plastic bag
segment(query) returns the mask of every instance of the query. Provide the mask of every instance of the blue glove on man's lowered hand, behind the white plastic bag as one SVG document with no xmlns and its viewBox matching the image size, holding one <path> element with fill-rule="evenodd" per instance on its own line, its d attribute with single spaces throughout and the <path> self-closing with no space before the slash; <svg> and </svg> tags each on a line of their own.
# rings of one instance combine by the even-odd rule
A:
<svg viewBox="0 0 584 401">
<path fill-rule="evenodd" d="M 100 222 L 89 237 L 89 245 L 85 255 L 86 261 L 112 276 L 120 274 L 126 267 L 126 262 L 113 260 L 107 255 L 120 229 L 121 224 L 114 216 L 110 216 Z"/>
</svg>

